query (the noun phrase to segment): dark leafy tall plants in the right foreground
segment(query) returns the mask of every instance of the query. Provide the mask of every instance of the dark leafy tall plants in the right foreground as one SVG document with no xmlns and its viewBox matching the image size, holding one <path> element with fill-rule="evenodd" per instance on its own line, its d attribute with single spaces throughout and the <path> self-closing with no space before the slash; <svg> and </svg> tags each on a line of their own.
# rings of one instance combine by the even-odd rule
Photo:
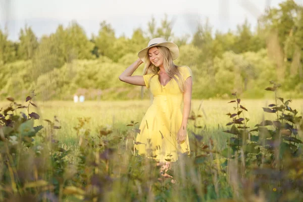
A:
<svg viewBox="0 0 303 202">
<path fill-rule="evenodd" d="M 264 112 L 276 115 L 275 120 L 263 120 L 255 129 L 249 130 L 248 118 L 244 112 L 247 109 L 240 104 L 241 99 L 236 97 L 230 103 L 235 103 L 235 113 L 227 115 L 232 119 L 226 125 L 232 125 L 225 132 L 233 134 L 228 146 L 222 155 L 231 162 L 238 161 L 239 176 L 245 186 L 254 187 L 254 191 L 245 192 L 265 193 L 265 197 L 278 201 L 286 200 L 288 195 L 295 193 L 295 198 L 302 198 L 300 185 L 301 172 L 298 165 L 302 165 L 302 152 L 297 138 L 298 131 L 302 130 L 302 116 L 291 109 L 291 100 L 284 100 L 277 96 L 280 84 L 270 82 L 273 86 L 265 90 L 275 93 L 275 103 L 263 108 Z M 280 104 L 279 104 L 280 103 Z M 226 160 L 228 162 L 229 160 Z M 294 163 L 295 162 L 295 163 Z M 237 163 L 236 163 L 237 164 Z M 243 184 L 244 186 L 244 184 Z"/>
</svg>

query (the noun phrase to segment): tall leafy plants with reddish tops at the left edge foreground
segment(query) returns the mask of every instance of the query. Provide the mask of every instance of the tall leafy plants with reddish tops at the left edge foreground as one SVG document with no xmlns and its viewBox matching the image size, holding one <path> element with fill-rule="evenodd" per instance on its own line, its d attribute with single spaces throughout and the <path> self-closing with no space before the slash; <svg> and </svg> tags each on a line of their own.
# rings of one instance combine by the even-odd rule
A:
<svg viewBox="0 0 303 202">
<path fill-rule="evenodd" d="M 3 201 L 34 198 L 34 195 L 51 199 L 53 193 L 59 194 L 64 186 L 65 157 L 69 151 L 61 148 L 54 139 L 54 129 L 60 126 L 45 120 L 49 126 L 43 135 L 39 131 L 44 127 L 34 126 L 34 120 L 40 119 L 37 113 L 29 112 L 30 107 L 37 107 L 33 103 L 34 96 L 32 91 L 32 95 L 26 97 L 27 106 L 8 97 L 10 106 L 0 111 L 1 184 L 5 185 L 0 198 Z M 22 109 L 27 110 L 27 115 Z M 56 118 L 55 121 L 59 122 Z M 35 144 L 38 136 L 45 143 Z"/>
</svg>

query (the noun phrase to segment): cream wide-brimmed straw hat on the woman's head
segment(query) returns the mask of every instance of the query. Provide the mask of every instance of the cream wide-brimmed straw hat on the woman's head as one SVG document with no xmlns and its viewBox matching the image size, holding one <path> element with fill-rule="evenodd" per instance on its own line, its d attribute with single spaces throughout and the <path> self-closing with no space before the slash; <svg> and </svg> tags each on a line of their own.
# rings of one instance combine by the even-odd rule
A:
<svg viewBox="0 0 303 202">
<path fill-rule="evenodd" d="M 173 60 L 176 60 L 179 56 L 179 48 L 173 42 L 167 42 L 164 38 L 153 38 L 148 42 L 147 47 L 143 48 L 138 53 L 138 57 L 144 62 L 144 58 L 148 52 L 148 49 L 155 46 L 165 46 L 169 49 Z"/>
</svg>

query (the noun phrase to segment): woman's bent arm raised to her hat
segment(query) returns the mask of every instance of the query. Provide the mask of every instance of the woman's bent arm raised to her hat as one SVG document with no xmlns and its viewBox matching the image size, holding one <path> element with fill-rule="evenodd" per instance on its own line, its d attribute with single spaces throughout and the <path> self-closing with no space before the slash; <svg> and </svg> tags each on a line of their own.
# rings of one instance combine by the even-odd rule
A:
<svg viewBox="0 0 303 202">
<path fill-rule="evenodd" d="M 143 76 L 131 76 L 134 71 L 141 65 L 143 62 L 138 59 L 136 62 L 131 64 L 120 76 L 120 81 L 124 81 L 133 85 L 142 85 L 145 86 Z"/>
</svg>

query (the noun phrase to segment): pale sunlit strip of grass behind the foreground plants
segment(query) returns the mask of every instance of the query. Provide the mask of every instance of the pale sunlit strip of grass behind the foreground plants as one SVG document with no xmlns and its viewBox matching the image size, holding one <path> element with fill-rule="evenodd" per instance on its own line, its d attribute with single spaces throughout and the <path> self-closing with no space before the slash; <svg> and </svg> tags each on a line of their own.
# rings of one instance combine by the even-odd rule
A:
<svg viewBox="0 0 303 202">
<path fill-rule="evenodd" d="M 226 147 L 226 139 L 230 137 L 229 134 L 222 132 L 229 128 L 226 123 L 230 121 L 227 113 L 233 113 L 236 105 L 228 103 L 230 100 L 192 100 L 191 112 L 197 117 L 195 120 L 196 126 L 202 128 L 195 128 L 194 121 L 188 121 L 188 131 L 201 133 L 205 135 L 207 140 L 212 137 L 217 143 L 216 148 L 222 149 Z M 18 102 L 25 104 L 24 102 Z M 114 132 L 126 133 L 130 127 L 126 125 L 130 121 L 141 122 L 144 113 L 148 109 L 149 100 L 127 100 L 127 101 L 101 101 L 101 102 L 84 102 L 73 103 L 70 101 L 55 101 L 55 102 L 34 102 L 38 108 L 30 106 L 30 112 L 34 111 L 40 115 L 40 120 L 36 121 L 36 125 L 46 126 L 47 123 L 43 119 L 54 120 L 57 116 L 61 122 L 62 128 L 57 131 L 56 138 L 67 145 L 68 147 L 77 146 L 77 134 L 73 129 L 78 124 L 78 117 L 90 117 L 90 122 L 86 126 L 91 130 L 91 135 L 98 134 L 98 128 L 102 126 L 113 126 Z M 249 118 L 248 126 L 254 126 L 260 123 L 263 119 L 273 120 L 274 115 L 264 113 L 262 107 L 267 107 L 274 103 L 274 100 L 266 99 L 244 99 L 241 100 L 248 112 L 244 111 L 244 116 Z M 5 107 L 9 102 L 1 102 L 0 106 Z M 289 105 L 292 109 L 296 109 L 299 114 L 303 112 L 303 99 L 294 99 Z M 21 111 L 21 110 L 20 110 Z M 23 110 L 26 112 L 25 110 Z M 192 114 L 191 114 L 192 115 Z M 139 124 L 136 127 L 139 127 Z M 191 133 L 189 133 L 191 137 Z"/>
</svg>

